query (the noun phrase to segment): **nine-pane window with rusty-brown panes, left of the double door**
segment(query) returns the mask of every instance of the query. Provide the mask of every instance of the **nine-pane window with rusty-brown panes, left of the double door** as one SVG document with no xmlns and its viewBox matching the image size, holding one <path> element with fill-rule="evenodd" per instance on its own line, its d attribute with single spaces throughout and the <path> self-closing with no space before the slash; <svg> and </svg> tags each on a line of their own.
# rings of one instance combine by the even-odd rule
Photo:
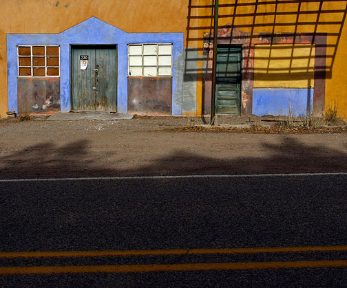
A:
<svg viewBox="0 0 347 288">
<path fill-rule="evenodd" d="M 18 76 L 59 77 L 58 45 L 19 45 Z"/>
</svg>

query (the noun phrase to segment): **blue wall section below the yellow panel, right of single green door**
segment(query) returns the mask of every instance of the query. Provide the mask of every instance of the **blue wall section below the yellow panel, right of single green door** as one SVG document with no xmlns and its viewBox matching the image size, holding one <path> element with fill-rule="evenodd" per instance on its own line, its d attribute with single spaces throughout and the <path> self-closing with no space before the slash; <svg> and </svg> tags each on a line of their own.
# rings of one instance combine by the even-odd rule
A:
<svg viewBox="0 0 347 288">
<path fill-rule="evenodd" d="M 313 88 L 254 88 L 252 113 L 305 116 L 313 109 Z"/>
</svg>

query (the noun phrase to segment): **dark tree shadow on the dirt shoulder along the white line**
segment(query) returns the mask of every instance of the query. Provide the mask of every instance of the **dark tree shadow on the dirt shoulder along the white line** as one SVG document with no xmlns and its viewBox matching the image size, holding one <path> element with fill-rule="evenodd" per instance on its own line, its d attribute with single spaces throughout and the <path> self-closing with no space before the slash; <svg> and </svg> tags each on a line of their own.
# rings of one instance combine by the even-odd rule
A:
<svg viewBox="0 0 347 288">
<path fill-rule="evenodd" d="M 117 165 L 108 164 L 101 155 L 91 153 L 89 140 L 70 142 L 63 146 L 43 142 L 0 157 L 0 173 L 2 178 L 21 178 L 347 171 L 347 153 L 322 144 L 308 146 L 289 136 L 284 139 L 284 143 L 263 143 L 262 151 L 267 152 L 265 157 L 253 155 L 216 159 L 176 149 L 171 155 L 158 157 L 150 164 L 117 168 Z M 347 144 L 345 146 L 347 148 Z M 118 160 L 116 156 L 115 161 Z"/>
</svg>

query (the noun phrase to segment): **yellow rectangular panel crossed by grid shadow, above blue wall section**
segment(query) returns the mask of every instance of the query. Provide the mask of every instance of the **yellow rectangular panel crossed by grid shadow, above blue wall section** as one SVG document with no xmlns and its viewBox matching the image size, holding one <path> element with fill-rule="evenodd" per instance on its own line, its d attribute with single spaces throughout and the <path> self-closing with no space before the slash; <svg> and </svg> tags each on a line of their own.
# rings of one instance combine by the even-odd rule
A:
<svg viewBox="0 0 347 288">
<path fill-rule="evenodd" d="M 314 45 L 255 45 L 255 88 L 313 88 Z"/>
</svg>

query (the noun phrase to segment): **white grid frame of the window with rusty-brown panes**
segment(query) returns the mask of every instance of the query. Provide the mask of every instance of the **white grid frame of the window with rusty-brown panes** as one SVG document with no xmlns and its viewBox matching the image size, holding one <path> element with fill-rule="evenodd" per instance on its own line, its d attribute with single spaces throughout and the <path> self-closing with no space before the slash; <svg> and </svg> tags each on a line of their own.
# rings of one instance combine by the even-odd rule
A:
<svg viewBox="0 0 347 288">
<path fill-rule="evenodd" d="M 33 55 L 32 54 L 32 47 L 36 47 L 36 46 L 39 46 L 39 47 L 45 47 L 45 55 Z M 28 56 L 25 56 L 25 55 L 19 55 L 19 47 L 30 47 L 30 55 Z M 47 47 L 58 47 L 59 51 L 58 51 L 58 55 L 47 55 Z M 19 57 L 23 57 L 23 58 L 30 58 L 30 63 L 31 65 L 30 66 L 23 66 L 23 65 L 19 65 Z M 32 58 L 33 57 L 44 57 L 45 58 L 45 66 L 34 66 L 33 63 L 32 63 Z M 59 66 L 48 66 L 47 65 L 47 58 L 48 57 L 58 57 L 59 58 Z M 34 78 L 42 78 L 42 77 L 52 77 L 52 78 L 58 78 L 60 77 L 60 60 L 61 60 L 61 55 L 60 55 L 60 45 L 17 45 L 17 77 L 34 77 Z M 30 76 L 21 76 L 19 75 L 19 68 L 31 68 L 31 75 Z M 40 67 L 40 68 L 45 68 L 45 76 L 34 76 L 34 67 Z M 47 75 L 47 68 L 58 68 L 58 76 L 48 76 Z"/>
</svg>

